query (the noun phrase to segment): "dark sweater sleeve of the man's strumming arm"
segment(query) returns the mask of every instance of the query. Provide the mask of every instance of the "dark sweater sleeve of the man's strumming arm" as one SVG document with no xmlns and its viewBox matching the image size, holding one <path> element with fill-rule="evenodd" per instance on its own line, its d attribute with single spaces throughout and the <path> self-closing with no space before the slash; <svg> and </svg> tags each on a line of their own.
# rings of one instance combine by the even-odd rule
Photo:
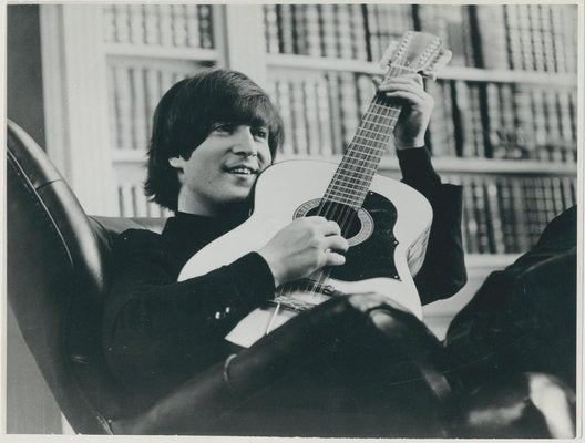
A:
<svg viewBox="0 0 585 443">
<path fill-rule="evenodd" d="M 225 334 L 274 295 L 274 277 L 256 253 L 181 282 L 181 264 L 154 233 L 123 233 L 113 255 L 104 349 L 112 371 L 134 388 L 164 392 L 156 383 L 172 385 L 213 364 Z"/>
</svg>

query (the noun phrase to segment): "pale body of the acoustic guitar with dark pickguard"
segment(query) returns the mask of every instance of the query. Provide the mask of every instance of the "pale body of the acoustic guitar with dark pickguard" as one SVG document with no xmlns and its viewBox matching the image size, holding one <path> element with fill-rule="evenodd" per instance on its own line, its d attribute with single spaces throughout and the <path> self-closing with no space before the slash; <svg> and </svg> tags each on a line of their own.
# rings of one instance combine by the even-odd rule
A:
<svg viewBox="0 0 585 443">
<path fill-rule="evenodd" d="M 312 215 L 337 166 L 319 161 L 288 161 L 268 167 L 257 179 L 252 216 L 193 256 L 181 271 L 179 281 L 258 250 L 295 218 Z M 412 274 L 420 269 L 424 259 L 432 222 L 430 204 L 410 186 L 376 175 L 356 218 L 346 236 L 350 244 L 346 264 L 333 267 L 324 286 L 345 293 L 377 291 L 388 295 L 421 318 Z M 327 300 L 329 295 L 299 290 L 290 297 L 310 306 Z M 252 327 L 256 330 L 242 331 L 249 324 L 238 326 L 236 330 L 240 329 L 243 338 L 234 341 L 249 346 L 264 334 L 268 328 L 266 322 L 271 330 L 296 315 L 289 309 L 279 309 L 275 318 L 273 310 L 270 307 L 258 309 L 248 316 L 249 319 L 244 319 L 243 323 L 258 323 Z"/>
</svg>

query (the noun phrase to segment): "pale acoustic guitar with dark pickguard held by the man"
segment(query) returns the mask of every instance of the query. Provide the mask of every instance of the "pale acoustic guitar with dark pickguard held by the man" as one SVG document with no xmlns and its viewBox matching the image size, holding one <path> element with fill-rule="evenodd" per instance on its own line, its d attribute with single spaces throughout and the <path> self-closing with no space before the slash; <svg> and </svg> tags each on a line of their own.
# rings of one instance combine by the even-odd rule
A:
<svg viewBox="0 0 585 443">
<path fill-rule="evenodd" d="M 437 37 L 407 32 L 386 52 L 384 80 L 409 72 L 430 75 L 450 54 Z M 376 94 L 339 164 L 285 161 L 266 168 L 256 182 L 250 217 L 186 262 L 179 281 L 260 249 L 298 217 L 319 215 L 341 227 L 350 245 L 345 265 L 281 285 L 274 300 L 244 318 L 227 340 L 249 347 L 298 312 L 342 293 L 383 293 L 422 319 L 413 276 L 424 260 L 432 209 L 415 189 L 376 174 L 400 109 Z"/>
</svg>

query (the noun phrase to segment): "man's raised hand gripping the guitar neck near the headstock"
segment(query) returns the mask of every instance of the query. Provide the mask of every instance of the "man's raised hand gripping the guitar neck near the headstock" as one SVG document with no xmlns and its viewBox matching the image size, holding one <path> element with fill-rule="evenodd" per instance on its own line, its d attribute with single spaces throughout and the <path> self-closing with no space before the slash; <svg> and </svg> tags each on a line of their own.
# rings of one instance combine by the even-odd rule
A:
<svg viewBox="0 0 585 443">
<path fill-rule="evenodd" d="M 379 78 L 372 78 L 372 81 L 379 92 L 402 105 L 393 133 L 397 150 L 423 146 L 434 100 L 424 92 L 422 78 L 412 73 L 393 76 L 386 82 Z"/>
</svg>

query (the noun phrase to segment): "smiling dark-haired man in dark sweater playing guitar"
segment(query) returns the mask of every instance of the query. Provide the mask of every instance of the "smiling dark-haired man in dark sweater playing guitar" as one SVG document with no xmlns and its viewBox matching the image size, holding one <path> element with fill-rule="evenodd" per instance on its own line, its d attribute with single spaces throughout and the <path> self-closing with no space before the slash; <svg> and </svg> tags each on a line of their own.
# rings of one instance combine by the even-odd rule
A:
<svg viewBox="0 0 585 443">
<path fill-rule="evenodd" d="M 423 303 L 430 302 L 455 293 L 465 282 L 461 188 L 441 184 L 423 146 L 432 99 L 423 91 L 420 76 L 394 78 L 378 90 L 403 104 L 394 131 L 403 181 L 420 190 L 434 209 L 427 259 L 415 278 Z M 274 162 L 281 142 L 277 111 L 244 74 L 204 72 L 178 82 L 161 100 L 154 116 L 145 188 L 155 202 L 176 215 L 168 219 L 162 235 L 129 230 L 120 236 L 103 321 L 110 368 L 133 399 L 129 401 L 129 415 L 146 410 L 168 393 L 181 392 L 176 390 L 182 383 L 198 383 L 206 377 L 211 381 L 203 389 L 205 394 L 199 388 L 196 392 L 186 389 L 183 393 L 187 396 L 181 402 L 193 403 L 199 394 L 225 400 L 223 390 L 234 393 L 243 384 L 247 393 L 254 394 L 259 391 L 253 388 L 257 383 L 289 375 L 296 364 L 316 360 L 319 363 L 314 368 L 320 368 L 324 361 L 333 364 L 341 354 L 341 360 L 349 361 L 363 343 L 387 340 L 393 324 L 414 321 L 400 307 L 389 306 L 382 295 L 353 295 L 326 302 L 268 336 L 281 336 L 277 348 L 287 343 L 285 348 L 275 348 L 274 338 L 248 350 L 230 348 L 224 340 L 226 333 L 274 297 L 277 286 L 324 266 L 345 262 L 347 240 L 336 223 L 322 217 L 297 219 L 267 239 L 259 250 L 204 276 L 176 281 L 188 258 L 247 217 L 255 179 Z M 403 315 L 412 319 L 397 320 L 396 316 Z M 428 332 L 417 323 L 415 333 Z M 331 351 L 331 343 L 341 351 Z M 368 358 L 373 356 L 372 348 Z M 217 367 L 223 372 L 214 379 Z M 242 377 L 245 382 L 234 381 Z M 343 380 L 347 382 L 347 378 Z M 207 402 L 207 412 L 216 410 L 222 409 L 209 408 Z M 264 408 L 265 415 L 267 410 Z M 181 414 L 171 415 L 181 421 Z M 185 422 L 173 427 L 172 420 L 165 425 L 172 433 L 185 429 L 187 433 L 214 432 L 212 427 L 202 429 L 188 414 L 185 421 L 187 427 Z M 122 429 L 148 429 L 138 427 Z"/>
</svg>

